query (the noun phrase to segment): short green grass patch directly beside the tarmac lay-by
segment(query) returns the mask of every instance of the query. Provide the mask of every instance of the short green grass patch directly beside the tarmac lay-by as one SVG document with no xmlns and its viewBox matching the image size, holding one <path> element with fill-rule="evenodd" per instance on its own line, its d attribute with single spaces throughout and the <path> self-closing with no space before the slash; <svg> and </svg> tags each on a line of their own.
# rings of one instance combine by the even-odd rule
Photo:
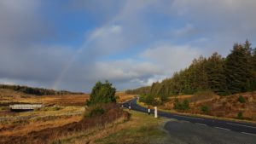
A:
<svg viewBox="0 0 256 144">
<path fill-rule="evenodd" d="M 154 118 L 153 115 L 131 111 L 131 120 L 123 130 L 114 132 L 105 138 L 99 139 L 99 144 L 122 144 L 122 143 L 154 143 L 164 142 L 168 134 L 163 130 L 167 119 Z"/>
</svg>

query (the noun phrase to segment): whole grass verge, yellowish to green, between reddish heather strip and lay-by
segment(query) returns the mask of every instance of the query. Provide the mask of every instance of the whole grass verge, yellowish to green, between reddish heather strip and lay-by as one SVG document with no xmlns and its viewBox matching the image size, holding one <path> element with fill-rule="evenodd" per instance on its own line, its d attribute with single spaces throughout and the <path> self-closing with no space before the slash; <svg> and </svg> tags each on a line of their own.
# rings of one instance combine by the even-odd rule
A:
<svg viewBox="0 0 256 144">
<path fill-rule="evenodd" d="M 154 118 L 142 112 L 130 111 L 131 117 L 127 121 L 118 119 L 114 123 L 97 126 L 84 132 L 69 135 L 58 144 L 125 144 L 125 143 L 164 143 L 168 141 L 168 134 L 163 130 L 166 118 Z M 168 119 L 170 120 L 170 119 Z"/>
</svg>

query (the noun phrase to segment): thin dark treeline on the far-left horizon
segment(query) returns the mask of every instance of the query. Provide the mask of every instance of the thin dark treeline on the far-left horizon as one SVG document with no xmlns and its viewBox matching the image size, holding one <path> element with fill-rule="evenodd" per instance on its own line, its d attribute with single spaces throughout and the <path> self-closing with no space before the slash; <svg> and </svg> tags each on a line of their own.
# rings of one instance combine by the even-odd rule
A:
<svg viewBox="0 0 256 144">
<path fill-rule="evenodd" d="M 0 89 L 13 89 L 15 91 L 23 92 L 31 95 L 80 95 L 83 93 L 70 92 L 67 90 L 54 90 L 54 89 L 42 89 L 42 88 L 32 88 L 20 85 L 5 85 L 0 84 Z"/>
</svg>

